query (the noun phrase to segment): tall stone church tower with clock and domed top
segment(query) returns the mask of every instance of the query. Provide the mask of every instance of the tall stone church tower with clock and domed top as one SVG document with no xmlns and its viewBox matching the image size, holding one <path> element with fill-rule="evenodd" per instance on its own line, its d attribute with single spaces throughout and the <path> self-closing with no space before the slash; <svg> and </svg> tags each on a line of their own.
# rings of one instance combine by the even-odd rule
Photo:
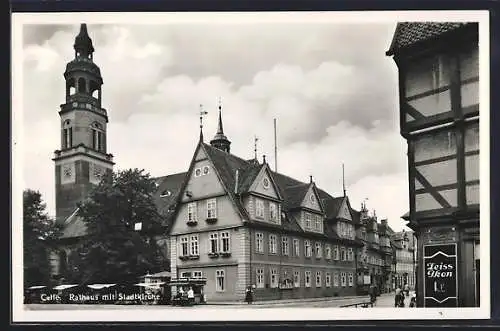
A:
<svg viewBox="0 0 500 331">
<path fill-rule="evenodd" d="M 101 107 L 101 71 L 93 61 L 94 47 L 81 24 L 75 38 L 75 58 L 66 65 L 66 102 L 60 107 L 61 148 L 54 152 L 56 218 L 63 222 L 106 171 L 113 169 L 107 153 L 108 115 Z"/>
</svg>

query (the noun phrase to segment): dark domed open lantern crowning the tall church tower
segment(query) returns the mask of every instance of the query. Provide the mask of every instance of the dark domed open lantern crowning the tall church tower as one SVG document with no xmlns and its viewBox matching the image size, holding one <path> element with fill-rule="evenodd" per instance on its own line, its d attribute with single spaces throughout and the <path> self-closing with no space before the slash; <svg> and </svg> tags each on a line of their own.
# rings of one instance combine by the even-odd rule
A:
<svg viewBox="0 0 500 331">
<path fill-rule="evenodd" d="M 94 46 L 87 31 L 87 24 L 80 25 L 80 32 L 73 45 L 75 58 L 66 65 L 66 103 L 84 102 L 101 107 L 101 70 L 93 61 Z"/>
</svg>

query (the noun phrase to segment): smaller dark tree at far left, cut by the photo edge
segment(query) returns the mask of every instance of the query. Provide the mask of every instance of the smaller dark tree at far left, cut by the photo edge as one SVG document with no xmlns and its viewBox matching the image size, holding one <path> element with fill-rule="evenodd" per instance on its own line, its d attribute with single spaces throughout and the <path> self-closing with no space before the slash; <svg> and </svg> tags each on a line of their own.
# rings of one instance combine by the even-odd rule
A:
<svg viewBox="0 0 500 331">
<path fill-rule="evenodd" d="M 49 249 L 59 235 L 59 226 L 46 211 L 38 191 L 23 192 L 24 286 L 47 284 L 50 280 Z"/>
</svg>

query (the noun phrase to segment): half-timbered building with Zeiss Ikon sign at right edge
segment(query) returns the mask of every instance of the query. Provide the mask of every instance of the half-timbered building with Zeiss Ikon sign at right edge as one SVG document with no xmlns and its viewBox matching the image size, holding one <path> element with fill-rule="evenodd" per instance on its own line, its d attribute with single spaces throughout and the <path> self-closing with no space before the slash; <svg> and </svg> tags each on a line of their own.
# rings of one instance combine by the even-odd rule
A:
<svg viewBox="0 0 500 331">
<path fill-rule="evenodd" d="M 408 142 L 406 218 L 418 238 L 419 305 L 477 306 L 478 24 L 399 23 L 386 54 L 399 70 L 400 128 Z M 449 280 L 429 278 L 436 254 L 454 268 Z"/>
</svg>

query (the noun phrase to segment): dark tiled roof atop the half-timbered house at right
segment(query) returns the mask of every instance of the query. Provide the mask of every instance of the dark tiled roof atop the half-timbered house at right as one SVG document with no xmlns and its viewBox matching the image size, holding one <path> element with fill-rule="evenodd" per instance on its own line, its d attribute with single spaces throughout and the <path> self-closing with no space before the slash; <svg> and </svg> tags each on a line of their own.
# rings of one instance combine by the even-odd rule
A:
<svg viewBox="0 0 500 331">
<path fill-rule="evenodd" d="M 426 41 L 447 32 L 464 27 L 467 22 L 400 22 L 396 26 L 394 36 L 386 52 L 393 55 L 414 44 Z"/>
</svg>

